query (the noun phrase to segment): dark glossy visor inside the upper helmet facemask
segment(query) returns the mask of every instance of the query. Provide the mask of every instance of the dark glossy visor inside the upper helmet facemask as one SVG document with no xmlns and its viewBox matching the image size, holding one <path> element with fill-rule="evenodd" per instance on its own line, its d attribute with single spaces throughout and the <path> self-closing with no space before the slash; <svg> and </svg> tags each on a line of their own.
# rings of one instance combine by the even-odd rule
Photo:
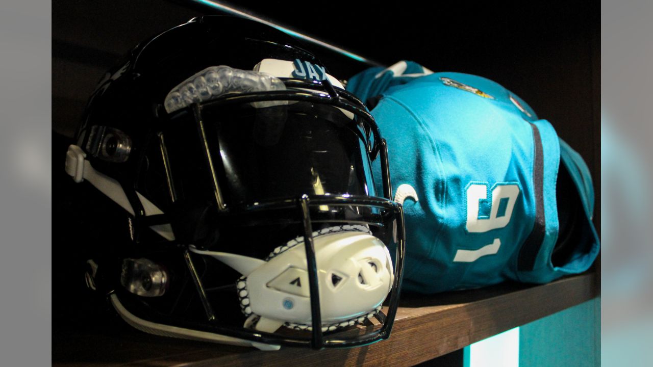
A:
<svg viewBox="0 0 653 367">
<path fill-rule="evenodd" d="M 358 116 L 327 104 L 272 104 L 277 105 L 202 106 L 195 113 L 199 116 L 192 116 L 199 118 L 199 126 L 183 114 L 173 118 L 170 131 L 164 133 L 173 177 L 184 177 L 183 183 L 174 182 L 181 191 L 177 195 L 185 199 L 206 195 L 215 185 L 217 200 L 227 207 L 300 195 L 377 196 Z M 182 136 L 197 134 L 189 127 L 199 129 L 204 142 L 199 141 L 198 148 L 206 152 L 177 144 L 197 141 Z M 189 178 L 194 183 L 189 185 Z"/>
</svg>

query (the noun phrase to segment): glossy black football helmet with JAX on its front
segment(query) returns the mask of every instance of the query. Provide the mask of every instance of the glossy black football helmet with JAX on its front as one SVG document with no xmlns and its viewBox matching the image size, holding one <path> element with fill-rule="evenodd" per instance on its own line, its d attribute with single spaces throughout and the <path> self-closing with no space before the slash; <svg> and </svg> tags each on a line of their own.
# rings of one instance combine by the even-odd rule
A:
<svg viewBox="0 0 653 367">
<path fill-rule="evenodd" d="M 136 46 L 91 95 L 66 171 L 101 193 L 87 284 L 133 327 L 260 349 L 389 337 L 404 223 L 385 140 L 296 44 L 194 18 Z"/>
</svg>

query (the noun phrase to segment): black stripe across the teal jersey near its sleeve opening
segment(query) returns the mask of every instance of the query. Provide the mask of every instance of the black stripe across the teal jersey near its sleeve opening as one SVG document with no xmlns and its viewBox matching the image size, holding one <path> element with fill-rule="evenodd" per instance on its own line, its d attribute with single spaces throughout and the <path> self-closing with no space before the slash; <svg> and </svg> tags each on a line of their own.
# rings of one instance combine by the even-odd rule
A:
<svg viewBox="0 0 653 367">
<path fill-rule="evenodd" d="M 544 180 L 544 157 L 542 156 L 542 138 L 534 123 L 533 141 L 535 142 L 535 157 L 533 163 L 533 187 L 535 189 L 535 223 L 533 230 L 524 241 L 519 250 L 517 270 L 520 272 L 533 270 L 537 253 L 544 240 L 546 218 L 544 215 L 544 193 L 542 191 Z"/>
</svg>

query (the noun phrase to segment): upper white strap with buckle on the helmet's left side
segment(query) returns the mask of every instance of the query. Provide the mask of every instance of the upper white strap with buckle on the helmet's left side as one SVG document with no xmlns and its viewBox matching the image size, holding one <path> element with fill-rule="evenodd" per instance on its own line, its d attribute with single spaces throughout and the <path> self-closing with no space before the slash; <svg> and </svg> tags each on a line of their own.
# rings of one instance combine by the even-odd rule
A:
<svg viewBox="0 0 653 367">
<path fill-rule="evenodd" d="M 72 180 L 76 183 L 87 180 L 96 189 L 101 191 L 101 193 L 106 195 L 106 197 L 127 210 L 129 214 L 134 215 L 134 209 L 131 207 L 131 204 L 129 204 L 129 199 L 127 199 L 127 195 L 120 183 L 95 170 L 95 168 L 91 166 L 91 162 L 86 159 L 86 153 L 84 153 L 84 150 L 74 144 L 68 147 L 68 152 L 66 153 L 66 173 L 69 174 L 72 177 Z M 138 191 L 136 191 L 136 195 L 138 195 L 138 200 L 140 200 L 143 205 L 145 215 L 163 214 L 161 209 L 150 200 L 146 199 L 143 195 L 140 195 Z M 174 233 L 172 232 L 170 224 L 152 225 L 150 228 L 166 240 L 174 240 Z"/>
</svg>

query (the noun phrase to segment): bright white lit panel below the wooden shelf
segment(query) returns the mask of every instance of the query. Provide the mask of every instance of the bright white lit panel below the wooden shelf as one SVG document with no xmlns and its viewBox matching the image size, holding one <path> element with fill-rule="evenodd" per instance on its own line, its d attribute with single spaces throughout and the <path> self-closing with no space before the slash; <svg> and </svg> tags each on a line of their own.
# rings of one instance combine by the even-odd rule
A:
<svg viewBox="0 0 653 367">
<path fill-rule="evenodd" d="M 519 328 L 468 345 L 463 354 L 465 367 L 518 367 Z"/>
</svg>

